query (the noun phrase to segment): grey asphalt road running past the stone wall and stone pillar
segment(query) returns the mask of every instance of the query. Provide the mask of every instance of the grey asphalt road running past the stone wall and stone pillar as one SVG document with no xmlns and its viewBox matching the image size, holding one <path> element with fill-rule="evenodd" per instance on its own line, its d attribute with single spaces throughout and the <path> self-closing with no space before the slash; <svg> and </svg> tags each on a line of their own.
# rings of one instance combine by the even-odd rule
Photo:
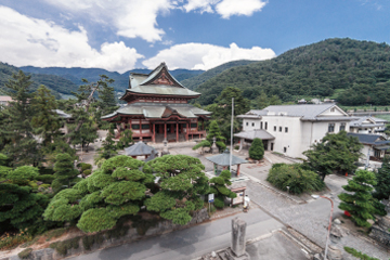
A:
<svg viewBox="0 0 390 260">
<path fill-rule="evenodd" d="M 70 258 L 75 260 L 179 260 L 194 259 L 213 250 L 230 246 L 231 221 L 239 217 L 247 222 L 247 239 L 256 238 L 283 227 L 283 224 L 271 218 L 259 208 L 248 213 L 213 220 L 186 230 L 155 236 L 148 239 L 107 248 L 89 255 Z"/>
</svg>

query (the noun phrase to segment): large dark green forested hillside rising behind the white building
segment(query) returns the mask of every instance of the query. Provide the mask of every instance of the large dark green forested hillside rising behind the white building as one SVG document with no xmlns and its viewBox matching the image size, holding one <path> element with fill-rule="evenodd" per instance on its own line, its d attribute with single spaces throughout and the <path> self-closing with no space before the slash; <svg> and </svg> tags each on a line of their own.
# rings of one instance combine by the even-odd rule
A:
<svg viewBox="0 0 390 260">
<path fill-rule="evenodd" d="M 233 67 L 195 90 L 197 100 L 211 104 L 226 87 L 237 87 L 245 98 L 261 91 L 283 101 L 300 96 L 337 94 L 343 105 L 390 104 L 390 47 L 352 39 L 327 39 L 287 51 L 280 56 Z"/>
</svg>

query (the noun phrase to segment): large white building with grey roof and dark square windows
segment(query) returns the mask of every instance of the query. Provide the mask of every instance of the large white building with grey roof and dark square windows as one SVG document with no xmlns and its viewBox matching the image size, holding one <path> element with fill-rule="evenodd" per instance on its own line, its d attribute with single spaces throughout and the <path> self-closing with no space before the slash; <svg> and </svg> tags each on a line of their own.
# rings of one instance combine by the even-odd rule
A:
<svg viewBox="0 0 390 260">
<path fill-rule="evenodd" d="M 296 158 L 304 157 L 302 153 L 326 133 L 348 132 L 356 119 L 334 103 L 268 106 L 237 118 L 243 118 L 243 132 L 234 134 L 240 138 L 240 148 L 260 138 L 266 151 Z"/>
</svg>

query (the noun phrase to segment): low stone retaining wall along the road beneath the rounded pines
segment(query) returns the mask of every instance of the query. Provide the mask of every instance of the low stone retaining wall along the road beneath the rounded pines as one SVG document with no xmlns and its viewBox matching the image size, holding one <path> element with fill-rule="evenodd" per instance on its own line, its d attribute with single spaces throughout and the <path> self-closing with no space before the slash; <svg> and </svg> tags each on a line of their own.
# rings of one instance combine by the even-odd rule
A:
<svg viewBox="0 0 390 260">
<path fill-rule="evenodd" d="M 160 235 L 164 233 L 172 232 L 176 230 L 183 230 L 187 229 L 192 225 L 202 223 L 204 221 L 209 220 L 209 214 L 207 212 L 207 209 L 200 209 L 199 211 L 194 212 L 193 219 L 186 224 L 186 225 L 179 225 L 173 224 L 171 221 L 164 220 L 159 221 L 155 226 L 150 227 L 144 235 L 140 235 L 136 231 L 136 229 L 131 227 L 127 232 L 126 235 L 121 237 L 113 237 L 113 235 L 108 235 L 108 232 L 102 232 L 94 235 L 89 236 L 80 236 L 75 237 L 69 240 L 65 240 L 63 243 L 69 244 L 69 247 L 65 250 L 66 253 L 60 253 L 56 249 L 53 248 L 44 248 L 41 250 L 35 250 L 30 253 L 29 258 L 30 260 L 57 260 L 57 259 L 64 259 L 70 256 L 76 255 L 82 255 L 82 253 L 89 253 L 91 251 L 102 249 L 102 248 L 108 248 L 114 246 L 119 246 L 121 244 L 131 243 L 141 238 L 146 238 L 155 235 Z M 72 240 L 72 242 L 70 242 Z M 88 243 L 89 249 L 86 249 L 86 245 Z M 20 260 L 20 257 L 12 256 L 8 258 L 2 258 L 0 260 Z"/>
</svg>

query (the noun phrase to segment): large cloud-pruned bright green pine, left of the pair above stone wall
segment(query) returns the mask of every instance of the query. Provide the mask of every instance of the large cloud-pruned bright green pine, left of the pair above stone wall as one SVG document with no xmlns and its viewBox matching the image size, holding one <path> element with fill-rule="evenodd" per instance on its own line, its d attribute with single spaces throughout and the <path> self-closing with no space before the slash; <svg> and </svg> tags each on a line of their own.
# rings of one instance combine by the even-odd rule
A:
<svg viewBox="0 0 390 260">
<path fill-rule="evenodd" d="M 113 227 L 122 216 L 136 214 L 154 176 L 140 171 L 141 160 L 119 155 L 74 187 L 57 193 L 43 217 L 52 221 L 75 221 L 83 232 Z"/>
</svg>

